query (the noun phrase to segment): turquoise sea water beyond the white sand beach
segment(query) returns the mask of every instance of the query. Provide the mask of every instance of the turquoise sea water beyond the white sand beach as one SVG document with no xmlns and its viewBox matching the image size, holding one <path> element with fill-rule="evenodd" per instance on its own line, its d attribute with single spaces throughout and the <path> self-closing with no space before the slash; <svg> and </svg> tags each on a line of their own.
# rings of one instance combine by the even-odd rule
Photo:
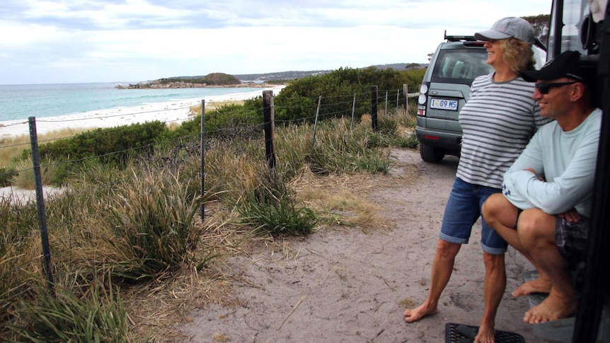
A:
<svg viewBox="0 0 610 343">
<path fill-rule="evenodd" d="M 131 82 L 137 83 L 137 82 Z M 0 121 L 74 115 L 150 103 L 248 93 L 261 88 L 117 89 L 119 83 L 61 83 L 0 86 Z M 122 82 L 127 86 L 130 82 Z"/>
</svg>

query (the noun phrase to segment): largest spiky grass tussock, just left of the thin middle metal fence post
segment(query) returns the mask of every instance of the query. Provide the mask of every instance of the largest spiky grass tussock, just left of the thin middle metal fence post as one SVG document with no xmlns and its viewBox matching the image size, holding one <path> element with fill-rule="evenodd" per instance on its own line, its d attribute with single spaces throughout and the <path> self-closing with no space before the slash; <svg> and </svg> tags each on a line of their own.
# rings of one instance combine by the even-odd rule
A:
<svg viewBox="0 0 610 343">
<path fill-rule="evenodd" d="M 108 207 L 112 236 L 106 238 L 119 259 L 111 274 L 122 279 L 160 279 L 191 264 L 200 232 L 192 227 L 200 199 L 189 199 L 186 187 L 167 170 L 122 182 Z M 205 261 L 199 262 L 200 269 Z"/>
</svg>

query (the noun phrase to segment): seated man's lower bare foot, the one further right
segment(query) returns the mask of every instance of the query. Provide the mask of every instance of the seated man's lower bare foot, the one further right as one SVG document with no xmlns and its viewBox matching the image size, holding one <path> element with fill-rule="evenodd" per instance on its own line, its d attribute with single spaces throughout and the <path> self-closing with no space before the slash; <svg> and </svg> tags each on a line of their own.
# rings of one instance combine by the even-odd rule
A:
<svg viewBox="0 0 610 343">
<path fill-rule="evenodd" d="M 551 292 L 543 302 L 530 308 L 523 316 L 524 322 L 538 324 L 568 318 L 576 312 L 578 302 L 575 298 L 565 298 Z"/>
</svg>

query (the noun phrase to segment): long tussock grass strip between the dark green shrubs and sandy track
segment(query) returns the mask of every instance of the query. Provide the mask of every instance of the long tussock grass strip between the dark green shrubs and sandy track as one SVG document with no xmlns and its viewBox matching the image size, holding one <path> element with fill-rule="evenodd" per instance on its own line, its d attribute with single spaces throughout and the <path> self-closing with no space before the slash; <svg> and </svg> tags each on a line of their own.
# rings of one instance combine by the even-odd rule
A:
<svg viewBox="0 0 610 343">
<path fill-rule="evenodd" d="M 210 139 L 202 197 L 197 139 L 158 144 L 122 166 L 70 165 L 66 191 L 47 202 L 57 298 L 44 291 L 35 207 L 0 199 L 0 336 L 184 340 L 177 320 L 206 303 L 236 304 L 231 285 L 248 282 L 224 272 L 226 258 L 261 243 L 289 258 L 290 235 L 386 227 L 367 194 L 391 187 L 380 176 L 393 165 L 386 146 L 407 131 L 400 115 L 380 122 L 379 132 L 367 116 L 353 129 L 321 122 L 315 139 L 309 124 L 277 127 L 275 170 L 260 134 Z"/>
</svg>

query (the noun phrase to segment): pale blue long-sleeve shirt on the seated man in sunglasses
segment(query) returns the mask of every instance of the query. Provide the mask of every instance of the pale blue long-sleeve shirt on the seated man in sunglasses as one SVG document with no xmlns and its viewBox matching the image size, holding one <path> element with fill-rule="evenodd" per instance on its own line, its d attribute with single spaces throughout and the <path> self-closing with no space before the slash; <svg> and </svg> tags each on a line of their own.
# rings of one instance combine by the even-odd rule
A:
<svg viewBox="0 0 610 343">
<path fill-rule="evenodd" d="M 590 216 L 601 124 L 602 110 L 596 109 L 568 132 L 557 122 L 541 127 L 505 173 L 505 197 L 519 209 L 536 207 L 561 214 L 576 208 L 579 214 Z M 544 180 L 526 168 L 534 169 Z"/>
</svg>

